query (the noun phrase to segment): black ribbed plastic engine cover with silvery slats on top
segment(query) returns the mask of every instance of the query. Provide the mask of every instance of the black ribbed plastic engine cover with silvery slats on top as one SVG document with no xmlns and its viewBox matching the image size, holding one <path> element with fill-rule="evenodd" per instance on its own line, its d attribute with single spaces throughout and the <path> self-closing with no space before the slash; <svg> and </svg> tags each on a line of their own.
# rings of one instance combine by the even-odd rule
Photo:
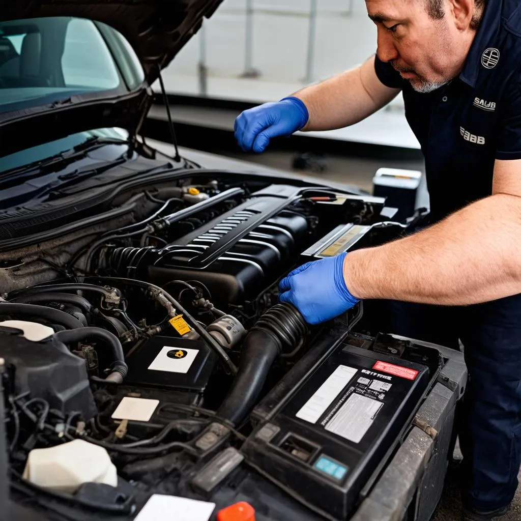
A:
<svg viewBox="0 0 521 521">
<path fill-rule="evenodd" d="M 307 220 L 288 208 L 298 189 L 270 188 L 148 256 L 148 280 L 195 279 L 218 302 L 253 299 L 296 261 L 308 233 Z"/>
</svg>

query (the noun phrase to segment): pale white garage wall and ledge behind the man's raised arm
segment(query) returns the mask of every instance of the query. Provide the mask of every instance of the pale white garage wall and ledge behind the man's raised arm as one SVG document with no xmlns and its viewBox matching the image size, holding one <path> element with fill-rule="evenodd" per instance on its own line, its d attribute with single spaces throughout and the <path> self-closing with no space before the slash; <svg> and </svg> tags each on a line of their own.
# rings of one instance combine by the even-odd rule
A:
<svg viewBox="0 0 521 521">
<path fill-rule="evenodd" d="M 254 8 L 252 63 L 246 70 L 246 5 Z M 208 95 L 253 103 L 279 100 L 302 86 L 361 64 L 376 51 L 376 27 L 363 0 L 317 0 L 313 72 L 307 78 L 312 0 L 225 0 L 203 29 L 164 72 L 171 93 Z M 201 60 L 207 70 L 200 81 Z M 159 90 L 158 82 L 154 90 Z M 404 115 L 400 94 L 386 108 L 356 125 L 318 137 L 419 148 Z"/>
</svg>

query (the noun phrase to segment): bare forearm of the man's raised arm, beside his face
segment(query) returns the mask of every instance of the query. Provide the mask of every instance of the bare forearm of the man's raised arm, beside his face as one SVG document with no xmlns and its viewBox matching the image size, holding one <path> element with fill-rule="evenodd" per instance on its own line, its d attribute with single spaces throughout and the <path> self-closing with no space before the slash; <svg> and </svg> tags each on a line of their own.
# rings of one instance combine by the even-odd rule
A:
<svg viewBox="0 0 521 521">
<path fill-rule="evenodd" d="M 348 127 L 387 105 L 399 93 L 376 77 L 374 56 L 361 66 L 295 93 L 306 105 L 309 121 L 302 129 Z"/>
</svg>

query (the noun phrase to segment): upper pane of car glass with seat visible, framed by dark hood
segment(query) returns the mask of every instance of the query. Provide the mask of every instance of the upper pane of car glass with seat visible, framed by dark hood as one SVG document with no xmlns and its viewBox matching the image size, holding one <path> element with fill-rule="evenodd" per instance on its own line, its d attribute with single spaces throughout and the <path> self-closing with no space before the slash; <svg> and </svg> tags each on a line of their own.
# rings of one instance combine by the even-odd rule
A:
<svg viewBox="0 0 521 521">
<path fill-rule="evenodd" d="M 0 113 L 125 93 L 143 79 L 130 45 L 105 24 L 71 17 L 0 22 Z"/>
</svg>

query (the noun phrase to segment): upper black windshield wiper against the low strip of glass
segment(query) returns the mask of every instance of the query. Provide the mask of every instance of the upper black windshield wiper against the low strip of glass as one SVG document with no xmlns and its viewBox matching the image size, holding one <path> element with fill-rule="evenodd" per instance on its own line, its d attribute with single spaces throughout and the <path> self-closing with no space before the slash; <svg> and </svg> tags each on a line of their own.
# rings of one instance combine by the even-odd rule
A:
<svg viewBox="0 0 521 521">
<path fill-rule="evenodd" d="M 51 157 L 23 165 L 21 167 L 7 170 L 0 174 L 0 181 L 9 181 L 17 178 L 22 181 L 28 177 L 34 176 L 36 173 L 40 175 L 42 172 L 48 172 L 55 166 L 66 166 L 68 163 L 83 157 L 86 153 L 92 152 L 97 148 L 105 145 L 128 145 L 129 142 L 124 139 L 98 138 L 93 136 L 85 140 L 83 143 L 76 145 L 68 151 L 60 152 Z M 121 155 L 123 156 L 123 154 Z M 118 158 L 119 159 L 119 158 Z"/>
</svg>

